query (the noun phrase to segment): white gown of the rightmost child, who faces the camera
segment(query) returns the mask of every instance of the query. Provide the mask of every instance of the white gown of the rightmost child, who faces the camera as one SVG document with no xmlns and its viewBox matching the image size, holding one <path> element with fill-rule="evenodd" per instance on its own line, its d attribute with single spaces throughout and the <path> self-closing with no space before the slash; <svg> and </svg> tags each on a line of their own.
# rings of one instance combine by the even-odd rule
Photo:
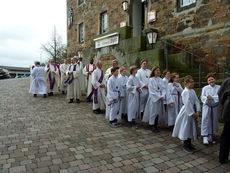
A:
<svg viewBox="0 0 230 173">
<path fill-rule="evenodd" d="M 208 136 L 214 135 L 218 130 L 218 105 L 219 97 L 218 91 L 219 85 L 212 87 L 207 85 L 203 87 L 201 93 L 201 101 L 203 103 L 202 108 L 202 122 L 201 122 L 201 135 Z M 212 100 L 208 100 L 207 96 L 212 96 Z"/>
</svg>

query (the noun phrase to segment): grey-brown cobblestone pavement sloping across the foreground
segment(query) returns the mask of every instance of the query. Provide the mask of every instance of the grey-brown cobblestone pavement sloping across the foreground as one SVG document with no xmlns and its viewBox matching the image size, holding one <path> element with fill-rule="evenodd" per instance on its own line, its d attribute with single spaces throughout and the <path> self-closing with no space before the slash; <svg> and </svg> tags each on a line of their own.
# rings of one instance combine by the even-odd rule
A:
<svg viewBox="0 0 230 173">
<path fill-rule="evenodd" d="M 187 154 L 168 129 L 153 134 L 122 122 L 111 128 L 91 104 L 67 104 L 64 95 L 28 94 L 28 79 L 0 81 L 0 173 L 14 172 L 213 172 L 219 144 Z"/>
</svg>

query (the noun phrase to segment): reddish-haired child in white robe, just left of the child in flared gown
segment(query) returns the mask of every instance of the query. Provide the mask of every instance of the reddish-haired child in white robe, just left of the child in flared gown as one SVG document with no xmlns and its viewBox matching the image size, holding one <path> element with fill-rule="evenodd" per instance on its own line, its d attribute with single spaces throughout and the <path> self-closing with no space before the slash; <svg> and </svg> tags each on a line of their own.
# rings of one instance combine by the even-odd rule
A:
<svg viewBox="0 0 230 173">
<path fill-rule="evenodd" d="M 167 112 L 168 112 L 168 126 L 174 126 L 176 117 L 182 107 L 181 93 L 183 88 L 179 83 L 179 74 L 172 73 L 167 86 Z"/>
</svg>

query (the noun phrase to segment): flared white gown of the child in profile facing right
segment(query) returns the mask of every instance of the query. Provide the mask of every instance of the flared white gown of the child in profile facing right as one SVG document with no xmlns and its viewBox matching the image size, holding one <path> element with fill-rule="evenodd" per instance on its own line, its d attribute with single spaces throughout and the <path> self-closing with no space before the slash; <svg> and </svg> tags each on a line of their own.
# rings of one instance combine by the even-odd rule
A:
<svg viewBox="0 0 230 173">
<path fill-rule="evenodd" d="M 178 137 L 184 141 L 188 138 L 197 139 L 197 120 L 192 116 L 196 112 L 200 112 L 200 103 L 193 89 L 185 88 L 181 94 L 183 106 L 176 118 L 172 136 Z"/>
</svg>

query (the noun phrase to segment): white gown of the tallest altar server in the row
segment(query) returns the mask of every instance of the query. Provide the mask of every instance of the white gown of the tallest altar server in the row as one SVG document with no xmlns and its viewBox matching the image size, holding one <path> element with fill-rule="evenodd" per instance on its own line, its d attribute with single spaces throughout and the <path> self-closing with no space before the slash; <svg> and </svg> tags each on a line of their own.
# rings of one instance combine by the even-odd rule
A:
<svg viewBox="0 0 230 173">
<path fill-rule="evenodd" d="M 137 71 L 136 77 L 140 80 L 142 88 L 142 94 L 141 94 L 141 112 L 144 112 L 145 106 L 148 100 L 149 92 L 148 88 L 145 88 L 144 86 L 149 83 L 149 76 L 151 71 L 149 69 L 139 69 Z"/>
</svg>

